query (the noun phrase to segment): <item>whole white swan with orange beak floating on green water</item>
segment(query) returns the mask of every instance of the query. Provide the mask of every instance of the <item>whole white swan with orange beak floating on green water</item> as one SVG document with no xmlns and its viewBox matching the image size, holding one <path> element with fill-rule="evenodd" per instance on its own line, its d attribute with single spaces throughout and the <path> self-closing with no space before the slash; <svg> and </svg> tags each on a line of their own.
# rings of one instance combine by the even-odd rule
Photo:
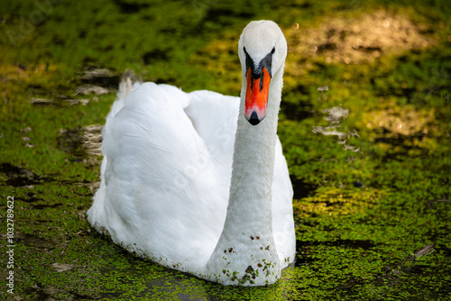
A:
<svg viewBox="0 0 451 301">
<path fill-rule="evenodd" d="M 87 221 L 165 267 L 262 286 L 295 256 L 293 191 L 276 133 L 287 41 L 276 23 L 252 22 L 238 55 L 241 99 L 121 83 Z"/>
</svg>

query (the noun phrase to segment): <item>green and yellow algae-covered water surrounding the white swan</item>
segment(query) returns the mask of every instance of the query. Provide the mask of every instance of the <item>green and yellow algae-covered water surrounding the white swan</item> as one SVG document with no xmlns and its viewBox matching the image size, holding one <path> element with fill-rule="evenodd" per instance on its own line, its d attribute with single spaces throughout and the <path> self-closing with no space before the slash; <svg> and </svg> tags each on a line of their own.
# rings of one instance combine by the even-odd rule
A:
<svg viewBox="0 0 451 301">
<path fill-rule="evenodd" d="M 450 17 L 446 0 L 3 1 L 0 296 L 450 299 Z M 237 41 L 258 19 L 289 42 L 278 131 L 297 259 L 272 286 L 223 287 L 90 229 L 101 157 L 84 142 L 126 69 L 238 96 Z"/>
</svg>

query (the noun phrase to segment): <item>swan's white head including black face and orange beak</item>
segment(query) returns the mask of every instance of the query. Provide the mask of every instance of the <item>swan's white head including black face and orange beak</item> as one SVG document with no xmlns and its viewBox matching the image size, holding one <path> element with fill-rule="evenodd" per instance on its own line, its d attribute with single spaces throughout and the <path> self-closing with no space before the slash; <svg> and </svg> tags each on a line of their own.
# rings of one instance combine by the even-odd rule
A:
<svg viewBox="0 0 451 301">
<path fill-rule="evenodd" d="M 283 72 L 287 41 L 276 23 L 253 21 L 241 34 L 238 55 L 245 78 L 244 117 L 257 125 L 266 115 L 271 80 Z"/>
</svg>

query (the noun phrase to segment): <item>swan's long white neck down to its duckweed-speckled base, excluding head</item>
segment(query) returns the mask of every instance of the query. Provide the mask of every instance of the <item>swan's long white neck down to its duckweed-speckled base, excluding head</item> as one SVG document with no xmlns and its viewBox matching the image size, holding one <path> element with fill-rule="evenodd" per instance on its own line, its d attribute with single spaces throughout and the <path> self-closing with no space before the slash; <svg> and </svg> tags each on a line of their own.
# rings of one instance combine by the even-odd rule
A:
<svg viewBox="0 0 451 301">
<path fill-rule="evenodd" d="M 243 114 L 243 71 L 226 222 L 207 262 L 207 278 L 226 285 L 265 285 L 281 274 L 272 235 L 272 178 L 282 75 L 280 68 L 272 77 L 266 116 L 252 125 Z"/>
</svg>

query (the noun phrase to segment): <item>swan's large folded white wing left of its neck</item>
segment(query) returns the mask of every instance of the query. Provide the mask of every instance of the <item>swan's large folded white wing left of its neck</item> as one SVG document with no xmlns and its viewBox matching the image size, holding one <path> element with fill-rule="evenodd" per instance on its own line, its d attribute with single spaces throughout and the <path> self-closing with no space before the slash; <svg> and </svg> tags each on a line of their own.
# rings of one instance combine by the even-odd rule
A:
<svg viewBox="0 0 451 301">
<path fill-rule="evenodd" d="M 125 249 L 182 270 L 198 269 L 213 251 L 229 185 L 210 153 L 214 139 L 207 143 L 193 126 L 208 136 L 194 117 L 197 97 L 154 83 L 119 93 L 103 131 L 101 187 L 88 212 L 88 221 Z"/>
</svg>

